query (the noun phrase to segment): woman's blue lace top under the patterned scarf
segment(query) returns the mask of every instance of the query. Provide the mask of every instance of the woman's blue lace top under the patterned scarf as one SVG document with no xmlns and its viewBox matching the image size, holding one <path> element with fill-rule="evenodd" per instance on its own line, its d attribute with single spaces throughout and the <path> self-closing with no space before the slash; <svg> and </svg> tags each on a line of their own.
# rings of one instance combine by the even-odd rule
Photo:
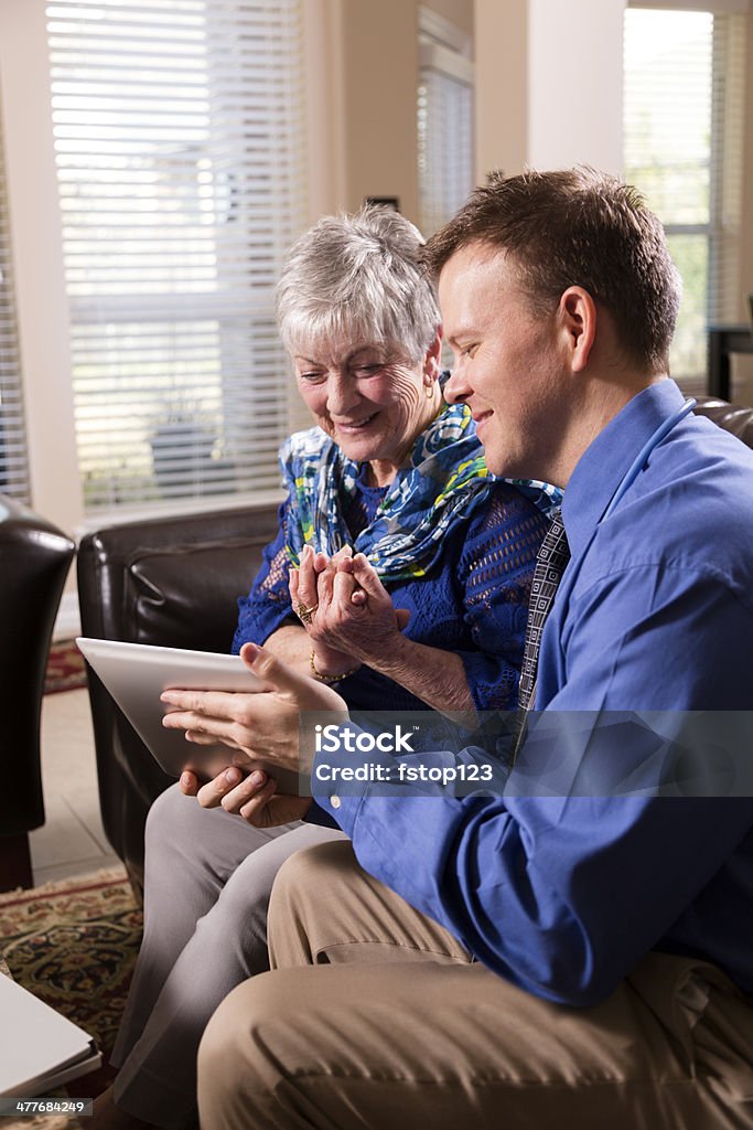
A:
<svg viewBox="0 0 753 1130">
<path fill-rule="evenodd" d="M 385 489 L 367 486 L 359 476 L 344 513 L 353 540 L 374 521 Z M 299 623 L 288 593 L 289 505 L 290 499 L 280 507 L 280 532 L 264 550 L 251 592 L 238 601 L 236 653 L 246 641 L 263 643 L 283 624 Z M 516 487 L 496 480 L 485 503 L 447 531 L 426 576 L 387 583 L 383 579 L 395 607 L 411 614 L 405 634 L 461 657 L 479 710 L 514 710 L 517 704 L 531 581 L 548 525 L 548 518 L 533 502 Z M 338 692 L 352 709 L 424 707 L 414 695 L 366 666 L 339 683 Z"/>
</svg>

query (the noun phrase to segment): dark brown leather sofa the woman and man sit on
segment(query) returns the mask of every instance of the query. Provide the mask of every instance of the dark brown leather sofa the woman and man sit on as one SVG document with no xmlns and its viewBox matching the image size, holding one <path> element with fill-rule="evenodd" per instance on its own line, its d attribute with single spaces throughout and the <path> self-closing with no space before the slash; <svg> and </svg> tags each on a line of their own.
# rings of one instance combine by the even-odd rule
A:
<svg viewBox="0 0 753 1130">
<path fill-rule="evenodd" d="M 697 410 L 753 447 L 753 408 L 702 398 Z M 228 651 L 236 599 L 275 531 L 274 507 L 242 507 L 90 533 L 78 555 L 84 635 Z M 147 810 L 169 779 L 91 671 L 89 695 L 105 831 L 139 888 Z"/>
</svg>

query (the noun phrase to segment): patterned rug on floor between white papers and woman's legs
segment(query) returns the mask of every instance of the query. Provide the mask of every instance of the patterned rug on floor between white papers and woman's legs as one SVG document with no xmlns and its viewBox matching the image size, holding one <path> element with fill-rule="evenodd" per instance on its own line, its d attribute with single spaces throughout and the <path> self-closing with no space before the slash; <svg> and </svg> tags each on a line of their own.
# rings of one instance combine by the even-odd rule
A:
<svg viewBox="0 0 753 1130">
<path fill-rule="evenodd" d="M 69 1083 L 70 1096 L 94 1097 L 113 1078 L 107 1067 L 141 941 L 141 911 L 123 868 L 33 890 L 0 895 L 0 956 L 25 989 L 97 1041 L 103 1066 Z M 2 1130 L 16 1122 L 0 1120 Z M 53 1122 L 41 1122 L 53 1130 Z M 30 1130 L 24 1119 L 18 1127 Z M 63 1121 L 61 1125 L 75 1125 Z"/>
</svg>

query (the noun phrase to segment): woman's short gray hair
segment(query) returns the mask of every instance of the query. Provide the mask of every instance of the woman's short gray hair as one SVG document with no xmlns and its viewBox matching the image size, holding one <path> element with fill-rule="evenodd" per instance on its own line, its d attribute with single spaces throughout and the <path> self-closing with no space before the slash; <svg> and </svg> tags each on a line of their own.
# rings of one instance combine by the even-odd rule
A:
<svg viewBox="0 0 753 1130">
<path fill-rule="evenodd" d="M 278 282 L 286 349 L 387 344 L 420 360 L 441 321 L 422 246 L 418 228 L 389 208 L 368 205 L 321 219 L 294 244 Z"/>
</svg>

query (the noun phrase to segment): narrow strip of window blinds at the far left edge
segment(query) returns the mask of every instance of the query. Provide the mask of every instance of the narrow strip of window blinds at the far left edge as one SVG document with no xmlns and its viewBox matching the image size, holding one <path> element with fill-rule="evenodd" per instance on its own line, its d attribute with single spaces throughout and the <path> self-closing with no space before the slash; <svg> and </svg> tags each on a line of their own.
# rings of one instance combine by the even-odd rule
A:
<svg viewBox="0 0 753 1130">
<path fill-rule="evenodd" d="M 0 494 L 29 502 L 8 199 L 0 145 Z"/>
</svg>

